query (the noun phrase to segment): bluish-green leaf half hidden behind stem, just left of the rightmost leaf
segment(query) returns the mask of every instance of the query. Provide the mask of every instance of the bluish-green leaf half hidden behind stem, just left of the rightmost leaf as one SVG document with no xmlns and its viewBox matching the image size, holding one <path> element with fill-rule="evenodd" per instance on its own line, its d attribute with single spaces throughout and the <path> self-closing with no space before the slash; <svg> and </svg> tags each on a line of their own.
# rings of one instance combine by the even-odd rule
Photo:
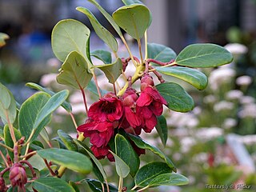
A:
<svg viewBox="0 0 256 192">
<path fill-rule="evenodd" d="M 148 58 L 153 58 L 159 62 L 170 62 L 170 60 L 176 58 L 174 50 L 157 43 L 147 44 L 147 54 Z"/>
</svg>

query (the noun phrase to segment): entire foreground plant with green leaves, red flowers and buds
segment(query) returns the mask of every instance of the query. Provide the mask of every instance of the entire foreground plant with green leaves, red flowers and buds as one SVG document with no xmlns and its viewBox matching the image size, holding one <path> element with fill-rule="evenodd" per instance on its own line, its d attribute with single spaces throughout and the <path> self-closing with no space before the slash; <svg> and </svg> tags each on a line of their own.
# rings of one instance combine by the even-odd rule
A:
<svg viewBox="0 0 256 192">
<path fill-rule="evenodd" d="M 77 10 L 90 19 L 95 33 L 107 46 L 107 50 L 90 51 L 90 30 L 74 19 L 65 19 L 52 32 L 52 48 L 55 56 L 63 62 L 57 81 L 60 84 L 81 90 L 86 110 L 86 122 L 77 126 L 72 107 L 67 98 L 68 90 L 54 93 L 35 83 L 27 83 L 40 92 L 32 95 L 22 105 L 14 100 L 10 90 L 0 84 L 0 117 L 4 126 L 1 132 L 2 171 L 1 191 L 79 191 L 79 184 L 87 182 L 93 191 L 142 191 L 155 186 L 178 186 L 188 183 L 161 150 L 151 146 L 139 135 L 158 130 L 162 143 L 166 143 L 167 126 L 164 106 L 170 110 L 187 112 L 193 109 L 193 98 L 182 86 L 166 82 L 161 74 L 180 78 L 198 90 L 207 86 L 205 74 L 194 68 L 221 66 L 232 61 L 230 52 L 214 44 L 187 46 L 178 56 L 169 47 L 148 43 L 146 30 L 152 16 L 150 10 L 137 0 L 123 0 L 125 6 L 112 16 L 95 0 L 89 0 L 114 27 L 128 52 L 127 58 L 119 58 L 118 42 L 109 30 L 98 22 L 94 14 L 85 7 Z M 138 42 L 139 58 L 131 53 L 122 30 Z M 142 54 L 144 38 L 144 56 Z M 113 54 L 115 61 L 112 62 Z M 102 61 L 94 65 L 92 57 Z M 126 71 L 135 67 L 132 76 Z M 112 84 L 113 90 L 106 91 L 97 81 L 101 70 Z M 121 82 L 124 81 L 124 85 Z M 134 83 L 139 82 L 139 86 Z M 159 83 L 157 83 L 159 82 Z M 98 101 L 87 106 L 86 92 L 98 96 Z M 95 91 L 96 90 L 96 91 Z M 44 146 L 38 136 L 46 136 L 44 127 L 51 121 L 54 110 L 62 106 L 72 118 L 78 131 L 76 139 L 58 130 L 59 147 L 46 140 Z M 90 146 L 85 138 L 90 138 Z M 140 167 L 139 156 L 146 150 L 162 158 L 161 162 L 149 162 Z M 107 174 L 99 159 L 114 162 L 119 176 L 118 186 L 108 183 Z M 38 166 L 43 162 L 42 166 Z M 66 169 L 85 175 L 81 181 L 64 181 Z M 9 176 L 8 173 L 9 172 Z M 87 178 L 94 172 L 97 179 Z M 134 186 L 123 185 L 130 174 Z"/>
</svg>

